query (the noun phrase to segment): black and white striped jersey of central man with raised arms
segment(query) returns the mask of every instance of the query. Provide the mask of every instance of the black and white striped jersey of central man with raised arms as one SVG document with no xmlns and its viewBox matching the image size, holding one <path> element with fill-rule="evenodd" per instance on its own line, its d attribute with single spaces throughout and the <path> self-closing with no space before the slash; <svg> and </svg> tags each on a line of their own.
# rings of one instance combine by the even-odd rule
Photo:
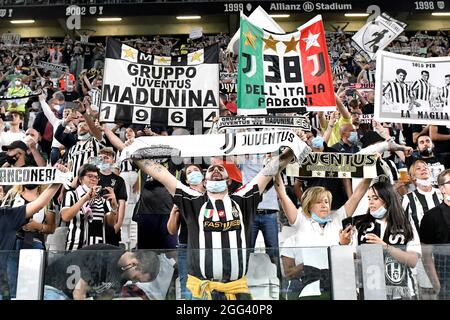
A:
<svg viewBox="0 0 450 320">
<path fill-rule="evenodd" d="M 247 273 L 247 249 L 261 199 L 257 184 L 247 184 L 223 200 L 213 200 L 178 182 L 174 203 L 188 227 L 189 274 L 229 282 Z"/>
</svg>

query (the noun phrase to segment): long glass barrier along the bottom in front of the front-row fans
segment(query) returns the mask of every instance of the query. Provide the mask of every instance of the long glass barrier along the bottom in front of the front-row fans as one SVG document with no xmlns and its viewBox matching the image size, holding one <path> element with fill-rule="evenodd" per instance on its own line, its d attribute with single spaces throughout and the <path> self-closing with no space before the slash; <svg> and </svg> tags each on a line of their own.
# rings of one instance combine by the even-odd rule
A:
<svg viewBox="0 0 450 320">
<path fill-rule="evenodd" d="M 237 299 L 333 300 L 342 299 L 336 280 L 349 276 L 350 264 L 346 279 L 357 300 L 450 299 L 449 245 L 362 245 L 345 257 L 331 254 L 342 247 L 281 247 L 278 256 L 264 249 L 48 251 L 42 297 L 195 300 L 231 292 Z M 18 251 L 0 253 L 0 299 L 14 298 L 18 261 Z"/>
</svg>

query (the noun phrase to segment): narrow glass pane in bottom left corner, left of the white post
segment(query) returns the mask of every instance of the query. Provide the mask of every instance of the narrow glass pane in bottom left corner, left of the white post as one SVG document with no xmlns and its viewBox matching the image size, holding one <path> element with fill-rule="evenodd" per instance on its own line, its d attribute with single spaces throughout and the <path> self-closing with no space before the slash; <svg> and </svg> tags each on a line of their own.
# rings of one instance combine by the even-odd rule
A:
<svg viewBox="0 0 450 320">
<path fill-rule="evenodd" d="M 19 251 L 0 251 L 0 300 L 16 297 Z"/>
</svg>

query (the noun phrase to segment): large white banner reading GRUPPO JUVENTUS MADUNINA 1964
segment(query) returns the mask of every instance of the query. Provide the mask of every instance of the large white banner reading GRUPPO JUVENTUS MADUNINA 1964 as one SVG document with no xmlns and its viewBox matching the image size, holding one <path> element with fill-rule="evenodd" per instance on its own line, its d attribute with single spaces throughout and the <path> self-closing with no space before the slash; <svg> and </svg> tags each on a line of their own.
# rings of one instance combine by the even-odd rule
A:
<svg viewBox="0 0 450 320">
<path fill-rule="evenodd" d="M 100 121 L 211 127 L 218 107 L 218 45 L 165 57 L 108 39 Z"/>
</svg>

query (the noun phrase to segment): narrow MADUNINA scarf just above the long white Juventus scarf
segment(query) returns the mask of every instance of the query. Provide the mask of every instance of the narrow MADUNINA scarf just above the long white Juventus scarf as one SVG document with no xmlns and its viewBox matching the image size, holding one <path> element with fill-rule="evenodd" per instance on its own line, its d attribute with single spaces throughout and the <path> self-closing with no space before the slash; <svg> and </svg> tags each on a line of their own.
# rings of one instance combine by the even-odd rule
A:
<svg viewBox="0 0 450 320">
<path fill-rule="evenodd" d="M 277 128 L 277 129 L 302 129 L 311 131 L 309 119 L 305 116 L 278 117 L 278 116 L 237 116 L 220 117 L 217 123 L 219 131 L 226 129 L 247 128 Z"/>
</svg>

